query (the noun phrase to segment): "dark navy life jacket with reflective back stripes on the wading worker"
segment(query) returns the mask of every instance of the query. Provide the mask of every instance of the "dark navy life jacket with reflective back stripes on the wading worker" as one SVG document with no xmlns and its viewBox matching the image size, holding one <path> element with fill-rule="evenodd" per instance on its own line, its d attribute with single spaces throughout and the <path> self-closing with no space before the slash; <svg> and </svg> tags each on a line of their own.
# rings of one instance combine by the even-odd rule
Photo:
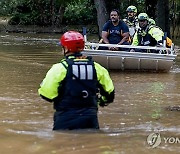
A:
<svg viewBox="0 0 180 154">
<path fill-rule="evenodd" d="M 91 58 L 77 60 L 67 58 L 67 74 L 59 89 L 56 110 L 66 108 L 97 108 L 97 75 Z"/>
</svg>

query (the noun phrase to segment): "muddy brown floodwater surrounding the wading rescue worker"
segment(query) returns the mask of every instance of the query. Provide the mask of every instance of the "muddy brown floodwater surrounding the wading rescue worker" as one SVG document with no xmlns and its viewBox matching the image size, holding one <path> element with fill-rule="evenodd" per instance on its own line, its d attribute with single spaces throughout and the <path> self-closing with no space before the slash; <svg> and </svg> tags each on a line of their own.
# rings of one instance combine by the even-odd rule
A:
<svg viewBox="0 0 180 154">
<path fill-rule="evenodd" d="M 168 73 L 111 71 L 116 98 L 99 108 L 100 130 L 52 131 L 53 105 L 37 89 L 62 58 L 59 37 L 0 34 L 1 154 L 179 153 L 178 59 Z"/>
</svg>

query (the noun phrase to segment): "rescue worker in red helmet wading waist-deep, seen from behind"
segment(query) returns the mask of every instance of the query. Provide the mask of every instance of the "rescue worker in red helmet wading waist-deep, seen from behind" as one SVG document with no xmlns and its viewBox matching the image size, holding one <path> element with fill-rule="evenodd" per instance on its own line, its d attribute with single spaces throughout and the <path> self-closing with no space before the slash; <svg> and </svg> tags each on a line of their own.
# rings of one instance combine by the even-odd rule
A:
<svg viewBox="0 0 180 154">
<path fill-rule="evenodd" d="M 66 32 L 60 43 L 65 58 L 52 66 L 38 90 L 42 98 L 54 103 L 53 130 L 99 129 L 98 105 L 104 107 L 114 100 L 109 73 L 81 54 L 84 38 L 80 33 Z"/>
</svg>

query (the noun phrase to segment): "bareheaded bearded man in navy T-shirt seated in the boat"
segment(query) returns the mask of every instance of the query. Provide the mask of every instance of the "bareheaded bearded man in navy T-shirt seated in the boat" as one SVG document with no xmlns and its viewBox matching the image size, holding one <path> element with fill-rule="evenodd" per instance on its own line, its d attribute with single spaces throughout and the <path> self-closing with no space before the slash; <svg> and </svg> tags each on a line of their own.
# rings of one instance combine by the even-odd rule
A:
<svg viewBox="0 0 180 154">
<path fill-rule="evenodd" d="M 110 20 L 107 21 L 102 30 L 102 40 L 105 44 L 129 45 L 129 28 L 120 19 L 119 11 L 113 9 L 110 12 Z M 122 50 L 116 47 L 100 47 L 99 49 Z"/>
</svg>

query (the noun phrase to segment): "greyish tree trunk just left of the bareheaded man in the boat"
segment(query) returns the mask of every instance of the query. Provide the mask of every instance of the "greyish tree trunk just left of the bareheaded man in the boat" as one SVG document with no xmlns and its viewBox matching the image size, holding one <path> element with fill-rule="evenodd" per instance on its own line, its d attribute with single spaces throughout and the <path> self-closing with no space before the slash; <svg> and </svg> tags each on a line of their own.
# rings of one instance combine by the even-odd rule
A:
<svg viewBox="0 0 180 154">
<path fill-rule="evenodd" d="M 107 13 L 106 3 L 104 0 L 94 0 L 94 4 L 97 10 L 99 35 L 101 37 L 101 31 L 102 31 L 103 25 L 108 20 L 109 15 Z"/>
</svg>

